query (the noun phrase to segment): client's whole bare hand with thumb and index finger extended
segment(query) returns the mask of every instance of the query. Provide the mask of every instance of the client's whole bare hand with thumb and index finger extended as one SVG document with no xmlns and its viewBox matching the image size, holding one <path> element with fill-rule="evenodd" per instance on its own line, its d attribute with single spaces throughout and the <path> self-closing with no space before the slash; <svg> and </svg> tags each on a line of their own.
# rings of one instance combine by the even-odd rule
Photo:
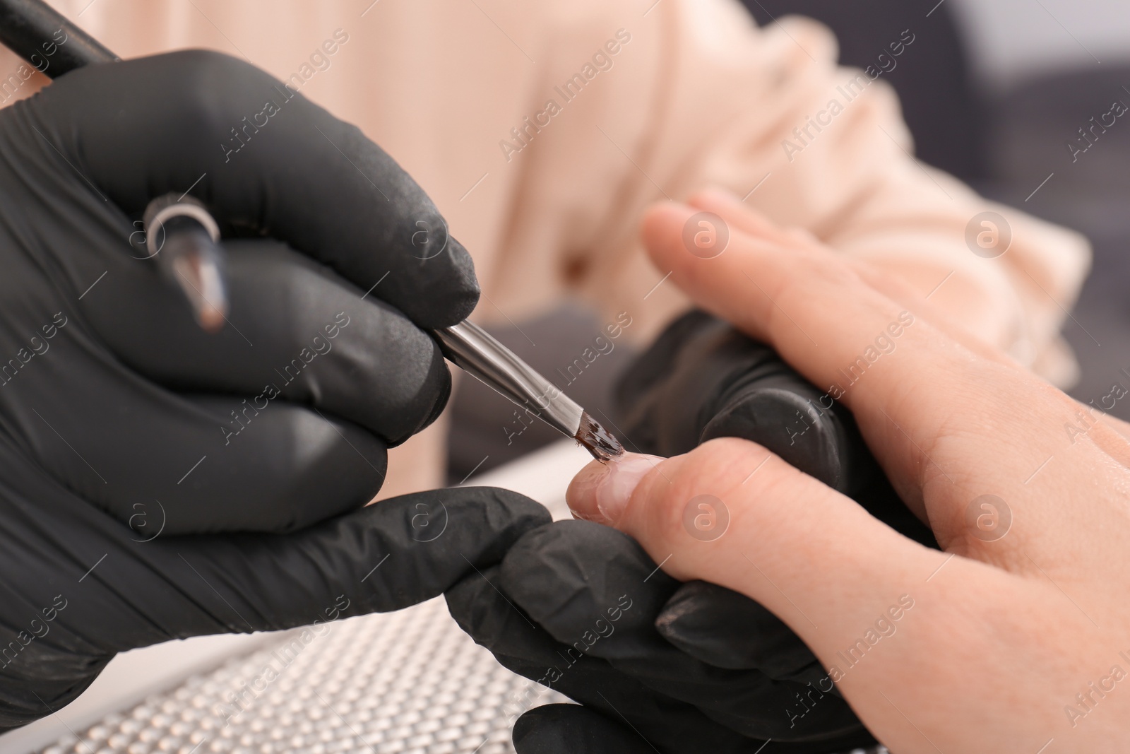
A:
<svg viewBox="0 0 1130 754">
<path fill-rule="evenodd" d="M 649 213 L 655 266 L 843 401 L 942 552 L 744 440 L 593 462 L 571 508 L 638 539 L 672 577 L 773 610 L 898 754 L 1127 751 L 1125 425 L 947 324 L 889 274 L 728 196 L 693 203 Z M 729 225 L 713 259 L 683 243 L 701 210 Z M 692 536 L 702 511 L 716 538 Z"/>
</svg>

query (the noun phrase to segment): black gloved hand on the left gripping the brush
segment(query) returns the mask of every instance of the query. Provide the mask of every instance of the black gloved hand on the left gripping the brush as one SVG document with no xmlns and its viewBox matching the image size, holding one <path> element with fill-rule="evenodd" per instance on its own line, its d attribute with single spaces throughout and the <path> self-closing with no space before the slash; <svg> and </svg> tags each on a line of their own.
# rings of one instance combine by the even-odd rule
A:
<svg viewBox="0 0 1130 754">
<path fill-rule="evenodd" d="M 229 253 L 215 335 L 134 225 L 190 190 Z M 0 111 L 0 728 L 125 649 L 436 596 L 548 520 L 493 489 L 360 508 L 447 398 L 420 328 L 478 287 L 420 188 L 262 71 L 68 73 Z"/>
</svg>

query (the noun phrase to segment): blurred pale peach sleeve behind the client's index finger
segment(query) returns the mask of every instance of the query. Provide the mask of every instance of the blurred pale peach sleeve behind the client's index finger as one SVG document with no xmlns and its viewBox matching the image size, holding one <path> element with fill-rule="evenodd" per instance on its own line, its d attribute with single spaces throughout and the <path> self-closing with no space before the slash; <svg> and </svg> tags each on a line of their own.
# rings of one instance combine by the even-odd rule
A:
<svg viewBox="0 0 1130 754">
<path fill-rule="evenodd" d="M 633 335 L 649 337 L 687 304 L 670 283 L 653 289 L 664 270 L 640 245 L 641 214 L 715 184 L 836 250 L 913 269 L 923 295 L 946 280 L 933 303 L 964 287 L 980 335 L 1053 380 L 1069 378 L 1074 362 L 1058 333 L 1087 269 L 1086 241 L 914 161 L 893 89 L 881 73 L 872 79 L 878 66 L 871 75 L 840 68 L 825 27 L 790 17 L 758 28 L 732 0 L 663 0 L 646 16 L 621 15 L 632 41 L 615 66 L 515 156 L 522 211 L 502 250 L 514 262 L 501 271 L 507 300 L 546 294 L 519 286 L 523 275 L 542 278 L 531 251 L 548 251 L 536 263 L 555 279 L 550 288 L 577 292 L 609 317 L 627 311 L 640 323 Z M 616 14 L 598 18 L 611 36 Z M 593 46 L 593 26 L 565 25 L 548 49 L 579 53 L 577 37 Z M 912 41 L 902 54 L 914 52 Z M 534 89 L 549 92 L 585 62 L 555 57 Z M 966 242 L 983 211 L 1011 232 L 994 259 Z"/>
</svg>

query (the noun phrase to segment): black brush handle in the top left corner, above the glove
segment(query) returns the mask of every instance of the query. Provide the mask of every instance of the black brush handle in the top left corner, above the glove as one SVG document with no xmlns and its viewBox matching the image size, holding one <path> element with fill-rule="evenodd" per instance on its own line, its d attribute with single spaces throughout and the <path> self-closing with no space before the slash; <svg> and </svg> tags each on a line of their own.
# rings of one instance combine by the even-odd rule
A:
<svg viewBox="0 0 1130 754">
<path fill-rule="evenodd" d="M 51 78 L 121 60 L 43 0 L 0 0 L 0 42 Z"/>
</svg>

